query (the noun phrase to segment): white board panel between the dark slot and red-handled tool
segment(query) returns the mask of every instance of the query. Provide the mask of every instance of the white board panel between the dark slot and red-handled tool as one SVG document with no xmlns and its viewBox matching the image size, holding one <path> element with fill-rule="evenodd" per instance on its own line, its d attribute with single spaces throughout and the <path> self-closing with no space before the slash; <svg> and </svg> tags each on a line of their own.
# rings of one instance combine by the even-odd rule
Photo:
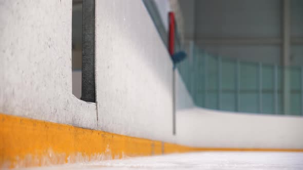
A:
<svg viewBox="0 0 303 170">
<path fill-rule="evenodd" d="M 173 63 L 142 1 L 96 1 L 96 88 L 101 130 L 173 137 Z"/>
</svg>

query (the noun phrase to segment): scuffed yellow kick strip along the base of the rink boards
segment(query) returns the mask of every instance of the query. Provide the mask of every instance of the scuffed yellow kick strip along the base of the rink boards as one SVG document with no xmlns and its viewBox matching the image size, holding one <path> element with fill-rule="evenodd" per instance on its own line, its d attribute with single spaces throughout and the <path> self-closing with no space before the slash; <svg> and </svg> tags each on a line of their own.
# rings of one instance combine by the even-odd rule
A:
<svg viewBox="0 0 303 170">
<path fill-rule="evenodd" d="M 303 149 L 188 147 L 0 114 L 0 168 L 193 151 L 303 152 Z"/>
</svg>

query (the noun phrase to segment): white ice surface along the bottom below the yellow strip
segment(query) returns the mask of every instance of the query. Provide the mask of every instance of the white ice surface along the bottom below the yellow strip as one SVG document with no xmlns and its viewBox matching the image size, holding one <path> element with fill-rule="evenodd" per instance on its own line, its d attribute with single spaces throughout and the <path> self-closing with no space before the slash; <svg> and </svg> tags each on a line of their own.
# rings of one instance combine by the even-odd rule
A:
<svg viewBox="0 0 303 170">
<path fill-rule="evenodd" d="M 39 169 L 303 169 L 303 153 L 198 152 L 65 164 Z"/>
</svg>

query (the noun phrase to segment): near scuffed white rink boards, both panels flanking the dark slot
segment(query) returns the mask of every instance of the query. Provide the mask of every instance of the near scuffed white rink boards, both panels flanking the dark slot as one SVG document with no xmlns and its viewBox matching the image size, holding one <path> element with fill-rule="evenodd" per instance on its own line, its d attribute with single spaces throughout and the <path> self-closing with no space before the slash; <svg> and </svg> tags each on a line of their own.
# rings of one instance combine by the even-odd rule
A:
<svg viewBox="0 0 303 170">
<path fill-rule="evenodd" d="M 71 8 L 0 4 L 0 112 L 172 140 L 173 64 L 143 3 L 96 2 L 97 105 L 72 95 Z"/>
</svg>

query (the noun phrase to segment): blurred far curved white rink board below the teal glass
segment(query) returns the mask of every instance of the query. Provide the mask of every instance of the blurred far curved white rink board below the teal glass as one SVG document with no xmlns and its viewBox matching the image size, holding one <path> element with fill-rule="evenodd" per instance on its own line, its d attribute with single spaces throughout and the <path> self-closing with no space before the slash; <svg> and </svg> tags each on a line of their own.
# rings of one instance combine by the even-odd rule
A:
<svg viewBox="0 0 303 170">
<path fill-rule="evenodd" d="M 179 144 L 220 148 L 303 148 L 303 117 L 196 107 L 178 111 L 176 118 Z"/>
</svg>

